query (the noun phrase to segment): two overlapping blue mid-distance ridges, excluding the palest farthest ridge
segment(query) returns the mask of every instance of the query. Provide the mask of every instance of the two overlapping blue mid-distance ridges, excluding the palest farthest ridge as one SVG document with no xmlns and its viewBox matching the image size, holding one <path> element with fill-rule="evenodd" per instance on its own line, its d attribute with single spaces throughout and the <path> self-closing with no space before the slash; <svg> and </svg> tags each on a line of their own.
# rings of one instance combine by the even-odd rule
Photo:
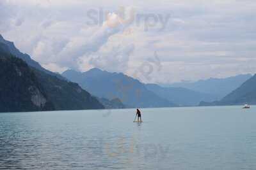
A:
<svg viewBox="0 0 256 170">
<path fill-rule="evenodd" d="M 97 68 L 84 73 L 67 70 L 62 76 L 79 83 L 94 96 L 121 99 L 128 107 L 196 106 L 200 101 L 215 101 L 210 94 L 181 87 L 145 84 L 123 73 L 109 73 Z"/>
</svg>

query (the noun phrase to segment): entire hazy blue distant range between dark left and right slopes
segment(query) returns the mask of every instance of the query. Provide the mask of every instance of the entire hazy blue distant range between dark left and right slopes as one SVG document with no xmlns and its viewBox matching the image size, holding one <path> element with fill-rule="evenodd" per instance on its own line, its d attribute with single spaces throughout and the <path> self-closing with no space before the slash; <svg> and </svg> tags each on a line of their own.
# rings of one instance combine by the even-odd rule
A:
<svg viewBox="0 0 256 170">
<path fill-rule="evenodd" d="M 239 87 L 251 77 L 251 74 L 186 83 L 188 88 L 198 91 L 184 87 L 161 87 L 157 84 L 144 84 L 123 73 L 109 73 L 97 68 L 84 73 L 67 70 L 62 76 L 79 83 L 81 87 L 94 96 L 110 100 L 116 97 L 129 107 L 170 107 L 197 106 L 201 101 L 208 103 L 218 101 L 221 96 L 225 96 Z M 201 87 L 202 89 L 200 89 Z M 228 87 L 230 88 L 228 89 Z"/>
</svg>

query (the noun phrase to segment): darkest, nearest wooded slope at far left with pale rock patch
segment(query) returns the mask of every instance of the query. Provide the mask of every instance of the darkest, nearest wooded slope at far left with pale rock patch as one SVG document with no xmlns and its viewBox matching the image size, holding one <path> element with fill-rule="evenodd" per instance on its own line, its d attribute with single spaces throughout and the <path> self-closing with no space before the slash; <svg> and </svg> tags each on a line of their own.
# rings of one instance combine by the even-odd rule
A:
<svg viewBox="0 0 256 170">
<path fill-rule="evenodd" d="M 0 112 L 54 110 L 28 65 L 0 53 Z"/>
</svg>

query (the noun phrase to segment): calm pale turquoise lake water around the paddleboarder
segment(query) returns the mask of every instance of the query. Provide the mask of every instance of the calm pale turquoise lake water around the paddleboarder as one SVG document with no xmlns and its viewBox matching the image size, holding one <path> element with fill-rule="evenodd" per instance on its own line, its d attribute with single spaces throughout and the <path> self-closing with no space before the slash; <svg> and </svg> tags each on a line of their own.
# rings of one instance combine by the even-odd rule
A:
<svg viewBox="0 0 256 170">
<path fill-rule="evenodd" d="M 256 169 L 255 108 L 0 113 L 0 169 Z"/>
</svg>

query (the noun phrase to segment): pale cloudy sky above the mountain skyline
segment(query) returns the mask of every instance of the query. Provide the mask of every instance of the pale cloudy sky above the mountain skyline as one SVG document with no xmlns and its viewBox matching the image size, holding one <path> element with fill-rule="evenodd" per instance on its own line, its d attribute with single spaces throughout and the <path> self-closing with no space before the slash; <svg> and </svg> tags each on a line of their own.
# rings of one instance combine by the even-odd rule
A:
<svg viewBox="0 0 256 170">
<path fill-rule="evenodd" d="M 164 84 L 256 73 L 255 0 L 1 0 L 0 34 L 60 73 Z"/>
</svg>

